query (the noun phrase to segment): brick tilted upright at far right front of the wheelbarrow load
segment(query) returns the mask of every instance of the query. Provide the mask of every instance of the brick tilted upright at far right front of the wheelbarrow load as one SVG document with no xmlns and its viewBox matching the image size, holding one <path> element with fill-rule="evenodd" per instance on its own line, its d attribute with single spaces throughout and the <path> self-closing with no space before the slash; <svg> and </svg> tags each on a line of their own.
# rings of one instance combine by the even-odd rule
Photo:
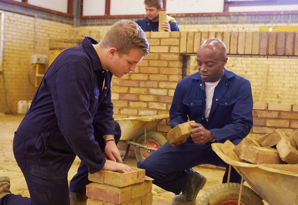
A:
<svg viewBox="0 0 298 205">
<path fill-rule="evenodd" d="M 282 138 L 276 145 L 276 149 L 284 162 L 298 163 L 298 150 L 291 145 L 290 140 L 287 137 Z"/>
</svg>

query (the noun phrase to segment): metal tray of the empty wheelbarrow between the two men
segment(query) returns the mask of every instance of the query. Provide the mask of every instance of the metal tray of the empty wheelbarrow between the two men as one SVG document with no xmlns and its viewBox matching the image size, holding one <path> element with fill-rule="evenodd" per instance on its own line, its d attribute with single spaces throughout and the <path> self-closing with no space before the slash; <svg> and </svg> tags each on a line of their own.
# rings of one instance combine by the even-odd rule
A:
<svg viewBox="0 0 298 205">
<path fill-rule="evenodd" d="M 132 140 L 138 138 L 144 133 L 145 126 L 146 132 L 154 131 L 157 128 L 158 122 L 165 118 L 169 118 L 169 115 L 150 115 L 115 119 L 121 127 L 120 140 Z"/>
</svg>

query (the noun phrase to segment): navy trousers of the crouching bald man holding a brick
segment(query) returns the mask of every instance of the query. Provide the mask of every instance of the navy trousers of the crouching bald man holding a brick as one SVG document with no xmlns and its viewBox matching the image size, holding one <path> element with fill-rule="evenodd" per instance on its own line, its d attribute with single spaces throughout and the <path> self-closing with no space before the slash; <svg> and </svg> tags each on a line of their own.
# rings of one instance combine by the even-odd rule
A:
<svg viewBox="0 0 298 205">
<path fill-rule="evenodd" d="M 187 169 L 202 164 L 225 167 L 211 144 L 196 145 L 192 140 L 172 147 L 168 142 L 145 160 L 138 162 L 138 168 L 154 178 L 153 183 L 164 190 L 179 194 L 187 179 Z"/>
</svg>

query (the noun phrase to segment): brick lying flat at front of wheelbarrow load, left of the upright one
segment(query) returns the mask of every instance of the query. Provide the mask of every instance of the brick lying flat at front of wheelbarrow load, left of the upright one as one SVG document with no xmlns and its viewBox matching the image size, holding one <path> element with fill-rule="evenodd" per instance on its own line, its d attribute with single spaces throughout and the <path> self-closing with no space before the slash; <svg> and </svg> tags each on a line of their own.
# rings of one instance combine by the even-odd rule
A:
<svg viewBox="0 0 298 205">
<path fill-rule="evenodd" d="M 277 150 L 257 146 L 241 146 L 239 158 L 251 163 L 283 163 Z"/>
</svg>

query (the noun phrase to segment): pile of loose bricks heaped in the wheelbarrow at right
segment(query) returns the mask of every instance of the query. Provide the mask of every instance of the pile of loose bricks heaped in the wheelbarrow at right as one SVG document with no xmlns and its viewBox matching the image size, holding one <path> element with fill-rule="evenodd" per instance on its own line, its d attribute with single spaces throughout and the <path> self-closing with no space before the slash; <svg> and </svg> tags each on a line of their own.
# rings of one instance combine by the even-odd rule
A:
<svg viewBox="0 0 298 205">
<path fill-rule="evenodd" d="M 277 129 L 259 138 L 247 136 L 237 146 L 227 141 L 221 150 L 225 153 L 225 150 L 233 149 L 234 153 L 230 153 L 229 157 L 237 161 L 298 164 L 297 147 L 298 130 L 285 133 Z"/>
</svg>

